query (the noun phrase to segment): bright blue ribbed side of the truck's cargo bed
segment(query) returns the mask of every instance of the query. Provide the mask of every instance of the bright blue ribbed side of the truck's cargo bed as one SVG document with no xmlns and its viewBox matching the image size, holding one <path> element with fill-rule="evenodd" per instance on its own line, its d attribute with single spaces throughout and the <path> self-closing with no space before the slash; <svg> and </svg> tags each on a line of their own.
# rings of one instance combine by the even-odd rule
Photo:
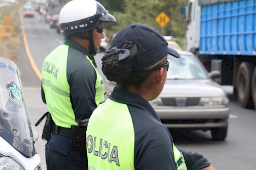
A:
<svg viewBox="0 0 256 170">
<path fill-rule="evenodd" d="M 256 55 L 256 0 L 201 6 L 200 53 Z"/>
</svg>

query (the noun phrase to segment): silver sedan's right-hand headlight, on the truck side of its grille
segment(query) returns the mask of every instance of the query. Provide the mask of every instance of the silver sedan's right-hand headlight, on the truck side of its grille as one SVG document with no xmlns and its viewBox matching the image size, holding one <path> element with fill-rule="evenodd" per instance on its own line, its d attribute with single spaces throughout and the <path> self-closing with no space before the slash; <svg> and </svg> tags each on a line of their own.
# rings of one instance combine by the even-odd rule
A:
<svg viewBox="0 0 256 170">
<path fill-rule="evenodd" d="M 229 99 L 227 97 L 201 98 L 200 105 L 203 105 L 203 106 L 228 105 L 228 102 L 229 102 Z"/>
</svg>

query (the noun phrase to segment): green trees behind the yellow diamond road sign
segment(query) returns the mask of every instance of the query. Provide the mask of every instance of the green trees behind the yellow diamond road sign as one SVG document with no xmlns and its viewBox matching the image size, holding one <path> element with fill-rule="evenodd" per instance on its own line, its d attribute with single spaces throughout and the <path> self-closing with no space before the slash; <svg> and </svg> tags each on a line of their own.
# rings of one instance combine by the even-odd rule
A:
<svg viewBox="0 0 256 170">
<path fill-rule="evenodd" d="M 116 17 L 116 23 L 104 23 L 108 37 L 131 23 L 144 23 L 161 30 L 155 18 L 162 11 L 170 18 L 163 27 L 164 35 L 172 35 L 180 44 L 184 42 L 186 31 L 185 18 L 181 17 L 180 8 L 187 0 L 100 0 L 100 3 Z M 183 45 L 181 45 L 183 46 Z"/>
</svg>

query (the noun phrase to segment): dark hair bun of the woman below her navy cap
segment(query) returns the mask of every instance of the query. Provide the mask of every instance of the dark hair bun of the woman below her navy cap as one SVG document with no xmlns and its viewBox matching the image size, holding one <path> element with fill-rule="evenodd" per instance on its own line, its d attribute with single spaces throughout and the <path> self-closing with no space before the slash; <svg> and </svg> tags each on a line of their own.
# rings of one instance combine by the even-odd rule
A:
<svg viewBox="0 0 256 170">
<path fill-rule="evenodd" d="M 132 60 L 119 61 L 118 55 L 108 57 L 102 62 L 102 72 L 108 80 L 123 82 L 131 74 Z"/>
</svg>

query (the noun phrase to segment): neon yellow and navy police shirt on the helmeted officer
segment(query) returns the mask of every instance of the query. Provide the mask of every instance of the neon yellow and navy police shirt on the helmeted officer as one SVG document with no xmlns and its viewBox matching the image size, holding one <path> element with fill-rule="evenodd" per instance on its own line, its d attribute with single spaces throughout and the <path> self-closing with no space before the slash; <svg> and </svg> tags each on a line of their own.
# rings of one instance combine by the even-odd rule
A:
<svg viewBox="0 0 256 170">
<path fill-rule="evenodd" d="M 77 126 L 104 100 L 102 78 L 88 56 L 85 48 L 67 39 L 44 59 L 42 98 L 58 126 Z"/>
</svg>

